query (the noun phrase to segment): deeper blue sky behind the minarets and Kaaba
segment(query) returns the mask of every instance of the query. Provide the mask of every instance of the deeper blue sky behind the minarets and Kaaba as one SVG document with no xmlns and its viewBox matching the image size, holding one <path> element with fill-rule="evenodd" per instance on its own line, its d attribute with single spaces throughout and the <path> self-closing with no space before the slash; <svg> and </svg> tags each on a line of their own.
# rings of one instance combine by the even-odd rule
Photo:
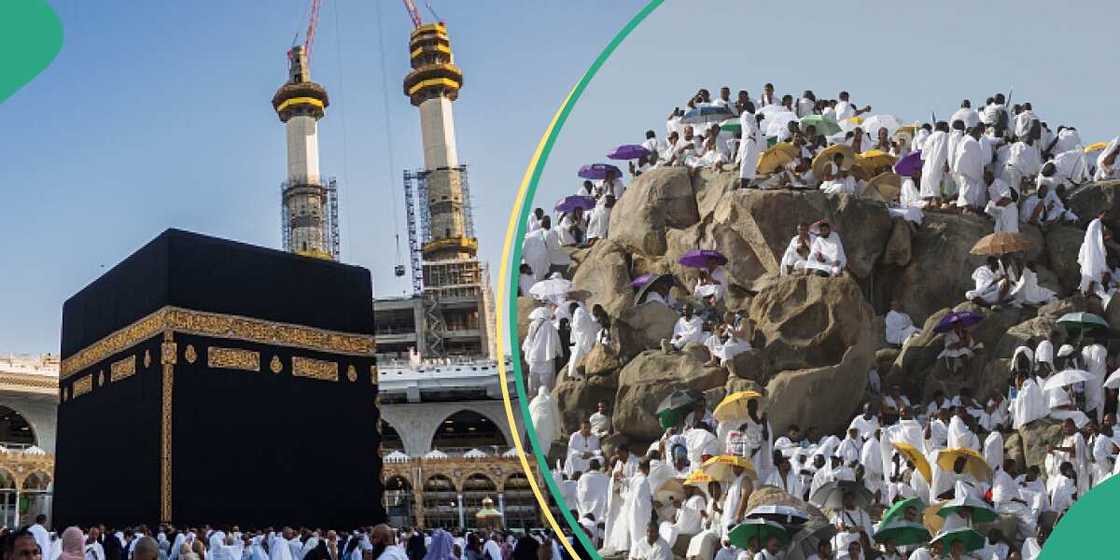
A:
<svg viewBox="0 0 1120 560">
<path fill-rule="evenodd" d="M 0 353 L 57 352 L 63 301 L 167 227 L 281 244 L 284 136 L 270 101 L 308 1 L 52 3 L 62 53 L 0 105 Z M 459 157 L 496 274 L 540 134 L 643 2 L 431 3 L 465 73 Z M 379 296 L 411 289 L 393 276 L 408 262 L 401 171 L 422 161 L 401 91 L 410 30 L 399 0 L 325 0 L 312 59 L 332 97 L 319 149 L 340 183 L 342 259 L 370 268 Z"/>
</svg>

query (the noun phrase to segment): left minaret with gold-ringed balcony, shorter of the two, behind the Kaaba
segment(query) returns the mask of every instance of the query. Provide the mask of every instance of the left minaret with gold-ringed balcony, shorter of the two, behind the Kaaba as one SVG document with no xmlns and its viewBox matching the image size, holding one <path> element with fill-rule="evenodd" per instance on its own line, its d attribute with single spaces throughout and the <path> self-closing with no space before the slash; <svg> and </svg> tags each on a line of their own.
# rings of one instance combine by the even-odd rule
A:
<svg viewBox="0 0 1120 560">
<path fill-rule="evenodd" d="M 284 249 L 332 259 L 329 185 L 319 176 L 318 132 L 330 102 L 327 91 L 311 82 L 304 47 L 292 47 L 288 58 L 288 82 L 272 96 L 272 109 L 288 134 L 288 179 L 281 187 Z"/>
</svg>

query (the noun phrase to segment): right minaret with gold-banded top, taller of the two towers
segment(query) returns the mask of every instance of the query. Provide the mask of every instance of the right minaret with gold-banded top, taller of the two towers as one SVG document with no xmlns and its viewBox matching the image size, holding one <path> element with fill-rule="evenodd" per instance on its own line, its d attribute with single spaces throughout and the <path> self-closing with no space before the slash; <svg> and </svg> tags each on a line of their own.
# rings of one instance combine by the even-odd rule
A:
<svg viewBox="0 0 1120 560">
<path fill-rule="evenodd" d="M 423 258 L 426 261 L 470 259 L 478 252 L 478 242 L 467 232 L 451 114 L 451 102 L 463 86 L 463 71 L 455 65 L 447 26 L 442 22 L 413 29 L 409 50 L 412 72 L 404 77 L 404 94 L 420 109 L 431 234 L 423 245 Z"/>
</svg>

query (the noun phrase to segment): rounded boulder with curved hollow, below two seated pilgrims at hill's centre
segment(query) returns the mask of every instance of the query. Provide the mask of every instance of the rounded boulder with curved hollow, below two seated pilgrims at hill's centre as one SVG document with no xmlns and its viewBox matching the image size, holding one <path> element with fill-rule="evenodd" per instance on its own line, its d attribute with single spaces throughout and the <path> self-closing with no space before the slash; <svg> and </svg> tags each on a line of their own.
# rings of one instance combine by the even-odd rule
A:
<svg viewBox="0 0 1120 560">
<path fill-rule="evenodd" d="M 872 317 L 859 286 L 847 277 L 783 277 L 750 301 L 750 318 L 776 370 L 839 363 L 858 339 L 878 338 Z"/>
</svg>

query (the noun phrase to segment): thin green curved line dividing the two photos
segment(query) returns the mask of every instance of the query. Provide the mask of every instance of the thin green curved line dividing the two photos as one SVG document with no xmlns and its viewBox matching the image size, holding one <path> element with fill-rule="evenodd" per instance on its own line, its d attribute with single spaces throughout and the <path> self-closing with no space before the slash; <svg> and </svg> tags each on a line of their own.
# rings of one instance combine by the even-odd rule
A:
<svg viewBox="0 0 1120 560">
<path fill-rule="evenodd" d="M 541 172 L 544 170 L 544 165 L 548 162 L 549 155 L 552 152 L 552 146 L 556 143 L 557 138 L 560 136 L 560 130 L 563 129 L 564 123 L 568 121 L 568 115 L 571 110 L 576 106 L 576 102 L 584 95 L 584 90 L 591 82 L 591 78 L 599 72 L 607 58 L 614 54 L 618 45 L 629 36 L 631 31 L 634 30 L 650 13 L 653 12 L 659 6 L 664 3 L 664 0 L 650 0 L 637 13 L 626 22 L 626 26 L 618 31 L 617 35 L 607 46 L 599 53 L 599 56 L 595 58 L 591 66 L 587 68 L 584 73 L 584 77 L 579 80 L 576 87 L 572 90 L 571 95 L 568 96 L 563 106 L 560 109 L 559 118 L 557 119 L 556 127 L 553 127 L 552 132 L 549 134 L 548 139 L 544 141 L 544 148 L 541 150 L 541 157 L 536 161 L 536 166 L 532 170 L 532 176 L 529 180 L 529 188 L 525 192 L 525 200 L 532 200 L 536 195 L 536 186 L 540 183 Z M 521 262 L 521 240 L 525 236 L 525 224 L 528 222 L 529 213 L 531 212 L 532 204 L 524 204 L 521 208 L 521 214 L 517 216 L 517 228 L 514 234 L 513 253 L 510 262 L 519 263 Z M 511 295 L 517 293 L 517 276 L 514 273 L 517 268 L 515 265 L 510 267 L 508 277 L 505 282 L 510 289 Z M 523 372 L 521 368 L 521 344 L 519 344 L 517 335 L 517 298 L 512 296 L 508 301 L 508 332 L 510 332 L 510 353 L 513 361 L 513 382 L 517 391 L 517 402 L 521 408 L 522 421 L 525 422 L 525 433 L 529 436 L 529 440 L 533 444 L 533 455 L 536 457 L 536 463 L 542 470 L 544 470 L 548 476 L 544 477 L 544 484 L 548 485 L 549 492 L 552 494 L 552 498 L 556 500 L 557 504 L 560 505 L 560 514 L 563 515 L 564 521 L 568 522 L 568 526 L 571 528 L 572 534 L 579 539 L 580 544 L 587 550 L 594 558 L 601 559 L 598 550 L 588 540 L 587 535 L 584 534 L 584 529 L 580 526 L 579 522 L 571 516 L 571 510 L 568 504 L 563 501 L 560 495 L 560 488 L 557 487 L 556 480 L 552 477 L 552 469 L 549 468 L 548 457 L 541 452 L 541 446 L 536 437 L 536 430 L 533 428 L 532 419 L 529 414 L 529 398 L 525 394 L 525 383 L 523 381 Z M 542 504 L 542 507 L 544 505 Z M 560 536 L 560 535 L 558 535 Z"/>
</svg>

